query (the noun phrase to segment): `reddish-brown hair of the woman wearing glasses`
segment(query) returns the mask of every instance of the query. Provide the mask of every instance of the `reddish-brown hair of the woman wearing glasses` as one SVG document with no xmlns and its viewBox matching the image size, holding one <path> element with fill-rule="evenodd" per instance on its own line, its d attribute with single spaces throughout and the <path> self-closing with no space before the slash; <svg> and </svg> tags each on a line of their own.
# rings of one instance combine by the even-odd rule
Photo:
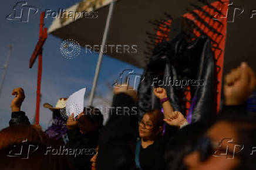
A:
<svg viewBox="0 0 256 170">
<path fill-rule="evenodd" d="M 153 123 L 153 133 L 154 138 L 161 137 L 163 135 L 163 125 L 164 125 L 164 115 L 160 110 L 153 110 L 151 112 L 145 113 L 149 115 L 150 120 Z M 162 127 L 160 129 L 160 127 Z"/>
</svg>

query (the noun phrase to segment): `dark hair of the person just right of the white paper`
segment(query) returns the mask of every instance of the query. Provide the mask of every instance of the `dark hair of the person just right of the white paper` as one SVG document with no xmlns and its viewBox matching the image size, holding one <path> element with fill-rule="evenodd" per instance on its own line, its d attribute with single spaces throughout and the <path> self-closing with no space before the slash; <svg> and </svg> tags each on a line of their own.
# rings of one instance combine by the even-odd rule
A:
<svg viewBox="0 0 256 170">
<path fill-rule="evenodd" d="M 98 129 L 103 127 L 103 115 L 97 107 L 85 107 L 83 108 L 83 113 L 89 117 L 90 122 L 97 124 Z"/>
</svg>

